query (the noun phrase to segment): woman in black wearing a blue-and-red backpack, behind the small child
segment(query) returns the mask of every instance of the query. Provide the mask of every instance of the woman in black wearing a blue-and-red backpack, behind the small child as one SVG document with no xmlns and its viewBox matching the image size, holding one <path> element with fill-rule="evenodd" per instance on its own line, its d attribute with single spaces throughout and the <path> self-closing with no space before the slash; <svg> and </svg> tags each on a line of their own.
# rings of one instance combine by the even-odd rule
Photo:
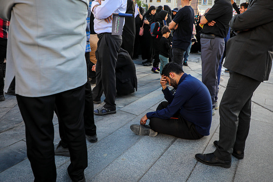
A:
<svg viewBox="0 0 273 182">
<path fill-rule="evenodd" d="M 153 68 L 152 71 L 154 73 L 159 73 L 159 67 L 158 64 L 160 62 L 159 60 L 159 45 L 160 45 L 160 39 L 162 37 L 162 33 L 161 33 L 161 29 L 164 26 L 164 22 L 166 23 L 166 20 L 168 18 L 168 12 L 165 10 L 161 10 L 158 15 L 156 16 L 156 25 L 155 25 L 155 29 L 153 31 L 153 34 L 156 35 L 155 37 L 155 61 L 153 63 Z"/>
</svg>

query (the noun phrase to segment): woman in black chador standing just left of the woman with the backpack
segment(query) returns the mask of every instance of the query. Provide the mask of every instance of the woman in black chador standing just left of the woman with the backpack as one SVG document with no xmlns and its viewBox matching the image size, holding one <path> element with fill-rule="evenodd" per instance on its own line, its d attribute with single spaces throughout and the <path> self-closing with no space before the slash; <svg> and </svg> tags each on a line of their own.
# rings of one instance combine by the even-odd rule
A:
<svg viewBox="0 0 273 182">
<path fill-rule="evenodd" d="M 149 10 L 144 14 L 142 23 L 144 21 L 144 33 L 141 38 L 141 57 L 143 66 L 151 66 L 154 57 L 154 41 L 149 30 L 150 25 L 155 22 L 156 6 L 151 6 Z"/>
</svg>

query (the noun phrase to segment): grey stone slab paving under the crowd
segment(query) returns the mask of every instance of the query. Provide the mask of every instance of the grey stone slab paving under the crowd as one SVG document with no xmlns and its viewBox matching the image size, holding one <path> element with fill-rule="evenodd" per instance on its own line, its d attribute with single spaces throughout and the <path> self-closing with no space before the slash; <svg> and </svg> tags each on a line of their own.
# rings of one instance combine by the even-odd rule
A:
<svg viewBox="0 0 273 182">
<path fill-rule="evenodd" d="M 253 96 L 252 120 L 246 142 L 245 158 L 232 158 L 229 169 L 204 165 L 196 153 L 215 150 L 219 113 L 213 116 L 210 135 L 200 140 L 183 140 L 158 134 L 137 136 L 130 125 L 139 123 L 147 112 L 155 111 L 163 94 L 160 76 L 134 61 L 137 68 L 137 92 L 116 99 L 117 114 L 95 116 L 98 142 L 87 142 L 87 182 L 272 182 L 273 181 L 273 74 L 260 84 Z M 191 54 L 187 74 L 201 80 L 200 54 Z M 229 74 L 219 86 L 219 101 Z M 246 88 L 247 89 L 247 88 Z M 0 102 L 0 182 L 31 182 L 34 176 L 26 157 L 25 127 L 15 96 L 5 95 Z M 104 98 L 102 98 L 103 100 Z M 95 108 L 101 106 L 95 104 Z M 58 121 L 54 117 L 55 143 L 59 142 Z M 66 168 L 68 157 L 56 156 L 57 181 L 70 182 Z"/>
</svg>

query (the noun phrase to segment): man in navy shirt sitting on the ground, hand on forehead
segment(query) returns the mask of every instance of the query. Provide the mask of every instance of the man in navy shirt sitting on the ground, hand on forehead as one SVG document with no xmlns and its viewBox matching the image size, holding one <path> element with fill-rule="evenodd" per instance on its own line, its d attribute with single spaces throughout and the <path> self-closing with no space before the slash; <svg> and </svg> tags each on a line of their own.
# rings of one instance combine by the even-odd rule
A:
<svg viewBox="0 0 273 182">
<path fill-rule="evenodd" d="M 166 86 L 174 88 L 173 93 Z M 132 124 L 137 135 L 156 136 L 158 133 L 178 138 L 196 140 L 210 134 L 212 122 L 212 101 L 208 88 L 198 79 L 184 73 L 175 62 L 167 63 L 160 79 L 162 92 L 167 101 L 161 102 L 155 112 L 149 112 Z M 147 120 L 149 125 L 145 125 Z"/>
</svg>

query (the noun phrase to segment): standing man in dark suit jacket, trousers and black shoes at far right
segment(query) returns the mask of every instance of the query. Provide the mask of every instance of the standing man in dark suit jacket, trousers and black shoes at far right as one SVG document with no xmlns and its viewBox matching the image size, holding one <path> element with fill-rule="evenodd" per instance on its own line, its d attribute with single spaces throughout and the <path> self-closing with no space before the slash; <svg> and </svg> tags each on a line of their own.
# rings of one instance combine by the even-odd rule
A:
<svg viewBox="0 0 273 182">
<path fill-rule="evenodd" d="M 246 12 L 231 20 L 231 28 L 239 33 L 227 43 L 224 66 L 230 69 L 230 79 L 220 104 L 219 141 L 214 142 L 214 153 L 196 154 L 197 161 L 229 168 L 231 154 L 244 158 L 251 98 L 261 81 L 268 80 L 272 67 L 272 14 L 272 0 L 252 0 Z"/>
</svg>

